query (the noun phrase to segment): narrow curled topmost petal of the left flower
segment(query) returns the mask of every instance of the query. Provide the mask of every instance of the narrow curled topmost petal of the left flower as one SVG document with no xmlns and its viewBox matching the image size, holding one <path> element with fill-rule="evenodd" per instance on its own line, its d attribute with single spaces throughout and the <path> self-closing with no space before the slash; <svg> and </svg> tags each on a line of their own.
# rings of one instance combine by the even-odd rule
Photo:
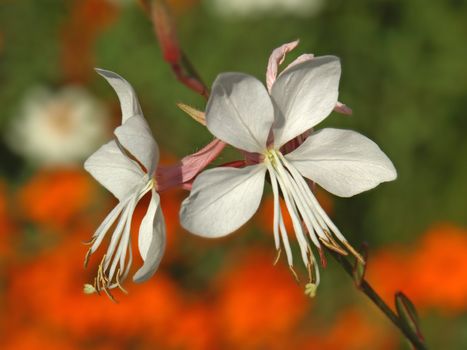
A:
<svg viewBox="0 0 467 350">
<path fill-rule="evenodd" d="M 103 76 L 117 93 L 122 108 L 122 124 L 134 115 L 143 115 L 135 90 L 129 82 L 117 73 L 105 69 L 96 68 L 96 72 Z"/>
</svg>

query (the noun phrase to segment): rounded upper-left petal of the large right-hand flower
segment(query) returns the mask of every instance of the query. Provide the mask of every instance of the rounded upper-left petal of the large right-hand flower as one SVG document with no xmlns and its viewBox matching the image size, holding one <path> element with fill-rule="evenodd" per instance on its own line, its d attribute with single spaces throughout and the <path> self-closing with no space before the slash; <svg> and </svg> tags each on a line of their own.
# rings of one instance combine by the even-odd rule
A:
<svg viewBox="0 0 467 350">
<path fill-rule="evenodd" d="M 249 152 L 266 149 L 274 108 L 266 88 L 241 73 L 220 74 L 206 107 L 206 124 L 222 141 Z"/>
</svg>

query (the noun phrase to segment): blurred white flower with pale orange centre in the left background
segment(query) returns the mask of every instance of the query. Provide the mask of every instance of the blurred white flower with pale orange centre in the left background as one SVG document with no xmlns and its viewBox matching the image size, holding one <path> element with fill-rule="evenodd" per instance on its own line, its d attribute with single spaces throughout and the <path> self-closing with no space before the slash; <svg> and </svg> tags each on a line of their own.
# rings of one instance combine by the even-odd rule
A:
<svg viewBox="0 0 467 350">
<path fill-rule="evenodd" d="M 31 90 L 5 139 L 12 150 L 39 165 L 76 164 L 106 138 L 108 110 L 85 89 Z"/>
</svg>

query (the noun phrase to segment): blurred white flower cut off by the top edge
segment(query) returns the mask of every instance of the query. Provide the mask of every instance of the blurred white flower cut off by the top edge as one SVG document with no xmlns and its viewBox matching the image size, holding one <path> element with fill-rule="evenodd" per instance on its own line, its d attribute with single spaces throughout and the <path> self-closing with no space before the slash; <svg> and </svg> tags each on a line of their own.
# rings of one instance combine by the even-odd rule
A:
<svg viewBox="0 0 467 350">
<path fill-rule="evenodd" d="M 226 17 L 258 17 L 271 14 L 307 17 L 318 13 L 323 5 L 323 0 L 208 0 L 209 7 Z"/>
</svg>

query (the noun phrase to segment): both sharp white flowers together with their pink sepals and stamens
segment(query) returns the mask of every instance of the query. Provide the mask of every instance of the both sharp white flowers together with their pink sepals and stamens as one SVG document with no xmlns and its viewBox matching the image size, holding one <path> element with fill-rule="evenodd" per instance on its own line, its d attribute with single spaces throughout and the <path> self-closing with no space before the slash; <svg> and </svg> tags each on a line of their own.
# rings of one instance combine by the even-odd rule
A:
<svg viewBox="0 0 467 350">
<path fill-rule="evenodd" d="M 325 128 L 313 131 L 335 110 L 350 114 L 338 102 L 341 75 L 334 56 L 298 57 L 278 74 L 278 66 L 298 42 L 274 50 L 267 69 L 267 87 L 243 73 L 220 74 L 212 86 L 204 115 L 207 129 L 219 142 L 245 155 L 244 162 L 198 173 L 214 158 L 211 151 L 184 158 L 179 183 L 195 178 L 190 195 L 182 203 L 180 221 L 188 231 L 208 238 L 226 236 L 244 225 L 257 211 L 266 180 L 274 194 L 272 229 L 276 250 L 283 250 L 294 273 L 294 258 L 281 211 L 280 197 L 292 218 L 293 235 L 308 270 L 307 291 L 314 294 L 319 269 L 314 250 L 323 246 L 339 254 L 363 259 L 326 215 L 310 183 L 317 183 L 341 197 L 350 197 L 396 178 L 389 158 L 367 137 L 350 130 Z M 132 87 L 115 73 L 98 70 L 116 90 L 122 106 L 122 125 L 115 140 L 102 146 L 85 168 L 119 200 L 91 240 L 89 254 L 116 221 L 110 245 L 94 285 L 87 292 L 121 287 L 131 264 L 130 225 L 136 203 L 147 192 L 151 202 L 139 229 L 143 267 L 133 277 L 144 281 L 156 271 L 165 246 L 165 226 L 156 190 L 164 169 L 157 169 L 158 148 L 151 136 Z M 217 147 L 217 146 L 216 146 Z M 207 148 L 211 149 L 211 148 Z M 216 153 L 217 154 L 217 153 Z M 198 166 L 193 167 L 193 164 Z M 186 168 L 190 164 L 190 168 Z M 235 164 L 235 165 L 233 165 Z M 190 174 L 190 176 L 187 176 Z M 197 175 L 197 176 L 196 176 Z M 117 220 L 118 219 L 118 220 Z"/>
</svg>

